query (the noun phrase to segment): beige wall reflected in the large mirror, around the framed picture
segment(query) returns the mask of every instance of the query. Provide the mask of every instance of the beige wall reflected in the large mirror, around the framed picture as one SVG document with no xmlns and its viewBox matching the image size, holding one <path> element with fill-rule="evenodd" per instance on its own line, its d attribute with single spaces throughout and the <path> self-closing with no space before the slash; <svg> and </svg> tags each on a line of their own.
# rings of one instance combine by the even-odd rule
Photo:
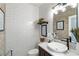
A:
<svg viewBox="0 0 79 59">
<path fill-rule="evenodd" d="M 59 39 L 68 38 L 68 18 L 69 16 L 76 14 L 76 8 L 67 7 L 65 12 L 59 12 L 57 15 L 54 15 L 53 19 L 53 31 L 57 33 Z M 64 20 L 64 30 L 56 29 L 56 22 Z"/>
</svg>

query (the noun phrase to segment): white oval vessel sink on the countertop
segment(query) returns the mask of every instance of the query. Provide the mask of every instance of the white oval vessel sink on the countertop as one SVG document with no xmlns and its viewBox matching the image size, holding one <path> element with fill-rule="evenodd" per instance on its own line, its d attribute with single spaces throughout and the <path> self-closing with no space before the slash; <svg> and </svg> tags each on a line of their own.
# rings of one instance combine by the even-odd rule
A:
<svg viewBox="0 0 79 59">
<path fill-rule="evenodd" d="M 47 44 L 48 48 L 50 48 L 51 50 L 55 51 L 55 52 L 66 52 L 67 51 L 67 46 L 62 44 L 62 43 L 58 43 L 58 42 L 51 42 Z"/>
</svg>

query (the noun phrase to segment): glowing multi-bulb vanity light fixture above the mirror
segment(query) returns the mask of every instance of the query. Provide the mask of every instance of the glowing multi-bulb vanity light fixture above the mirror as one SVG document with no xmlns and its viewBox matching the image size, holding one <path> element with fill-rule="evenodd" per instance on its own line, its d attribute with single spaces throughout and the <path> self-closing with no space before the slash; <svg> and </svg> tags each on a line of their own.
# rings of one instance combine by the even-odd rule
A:
<svg viewBox="0 0 79 59">
<path fill-rule="evenodd" d="M 75 8 L 77 6 L 77 3 L 57 3 L 54 7 L 52 7 L 52 9 L 55 10 L 54 14 L 58 14 L 58 11 L 65 12 L 67 6 Z"/>
</svg>

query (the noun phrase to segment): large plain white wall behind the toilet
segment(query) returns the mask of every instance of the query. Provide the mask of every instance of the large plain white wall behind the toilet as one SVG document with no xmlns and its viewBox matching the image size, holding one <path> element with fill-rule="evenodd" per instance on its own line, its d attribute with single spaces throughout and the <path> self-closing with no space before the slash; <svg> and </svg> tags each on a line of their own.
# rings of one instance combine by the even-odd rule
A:
<svg viewBox="0 0 79 59">
<path fill-rule="evenodd" d="M 34 24 L 39 8 L 31 4 L 6 4 L 6 53 L 27 55 L 39 41 L 39 26 Z"/>
</svg>

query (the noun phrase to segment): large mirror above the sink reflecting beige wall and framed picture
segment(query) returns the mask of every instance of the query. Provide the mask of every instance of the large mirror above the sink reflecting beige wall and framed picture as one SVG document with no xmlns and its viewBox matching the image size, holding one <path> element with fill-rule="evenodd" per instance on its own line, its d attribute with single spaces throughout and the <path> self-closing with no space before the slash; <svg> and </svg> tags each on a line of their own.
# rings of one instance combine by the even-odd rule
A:
<svg viewBox="0 0 79 59">
<path fill-rule="evenodd" d="M 77 29 L 77 6 L 66 6 L 65 11 L 58 10 L 58 14 L 54 14 L 53 32 L 57 33 L 60 40 L 68 38 L 72 29 Z M 64 21 L 60 23 L 59 21 Z M 63 30 L 58 30 L 63 29 Z"/>
</svg>

